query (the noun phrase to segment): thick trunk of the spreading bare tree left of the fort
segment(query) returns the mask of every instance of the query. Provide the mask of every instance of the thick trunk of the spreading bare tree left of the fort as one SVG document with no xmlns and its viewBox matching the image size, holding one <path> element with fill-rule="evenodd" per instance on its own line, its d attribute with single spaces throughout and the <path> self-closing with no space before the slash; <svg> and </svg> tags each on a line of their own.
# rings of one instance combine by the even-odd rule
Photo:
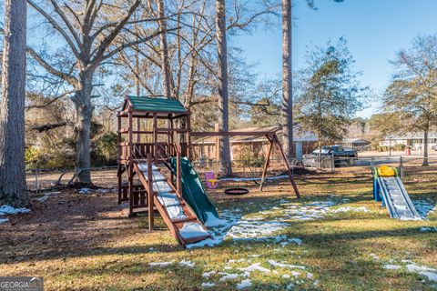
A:
<svg viewBox="0 0 437 291">
<path fill-rule="evenodd" d="M 91 93 L 93 91 L 93 72 L 84 71 L 80 73 L 81 89 L 76 92 L 76 164 L 75 183 L 91 184 L 91 121 L 94 107 L 91 104 Z"/>
</svg>

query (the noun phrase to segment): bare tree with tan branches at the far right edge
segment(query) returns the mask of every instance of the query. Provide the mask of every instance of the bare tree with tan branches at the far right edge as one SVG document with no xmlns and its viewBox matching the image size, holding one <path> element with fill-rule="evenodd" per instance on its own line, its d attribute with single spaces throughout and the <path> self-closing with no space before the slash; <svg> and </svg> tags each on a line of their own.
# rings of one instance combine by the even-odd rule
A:
<svg viewBox="0 0 437 291">
<path fill-rule="evenodd" d="M 429 166 L 428 135 L 437 125 L 437 35 L 416 36 L 412 47 L 399 51 L 391 64 L 396 72 L 383 105 L 392 122 L 383 122 L 390 124 L 391 132 L 422 132 L 422 166 Z"/>
</svg>

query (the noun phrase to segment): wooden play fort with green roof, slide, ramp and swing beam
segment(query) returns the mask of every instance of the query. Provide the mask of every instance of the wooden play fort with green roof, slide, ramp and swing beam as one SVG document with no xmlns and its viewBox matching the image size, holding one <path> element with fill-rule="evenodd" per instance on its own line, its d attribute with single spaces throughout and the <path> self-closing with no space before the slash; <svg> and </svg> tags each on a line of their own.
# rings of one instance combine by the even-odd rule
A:
<svg viewBox="0 0 437 291">
<path fill-rule="evenodd" d="M 154 210 L 158 210 L 182 246 L 209 238 L 205 224 L 218 218 L 190 164 L 193 136 L 265 136 L 269 151 L 259 189 L 262 191 L 271 150 L 277 145 L 291 185 L 300 197 L 274 132 L 192 132 L 189 110 L 178 100 L 157 97 L 127 96 L 117 118 L 118 204 L 128 202 L 130 217 L 147 213 L 150 230 L 154 227 Z"/>
</svg>

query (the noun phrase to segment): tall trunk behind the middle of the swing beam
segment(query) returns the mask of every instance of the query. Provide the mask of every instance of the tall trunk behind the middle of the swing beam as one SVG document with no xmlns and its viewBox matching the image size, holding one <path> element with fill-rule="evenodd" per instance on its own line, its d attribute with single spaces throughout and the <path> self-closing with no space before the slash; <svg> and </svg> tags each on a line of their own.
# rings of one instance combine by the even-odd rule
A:
<svg viewBox="0 0 437 291">
<path fill-rule="evenodd" d="M 217 51 L 219 58 L 219 131 L 229 131 L 229 95 L 228 95 L 228 47 L 226 43 L 226 6 L 225 0 L 216 1 Z M 219 138 L 219 158 L 222 162 L 221 174 L 229 176 L 230 166 L 229 136 Z"/>
</svg>

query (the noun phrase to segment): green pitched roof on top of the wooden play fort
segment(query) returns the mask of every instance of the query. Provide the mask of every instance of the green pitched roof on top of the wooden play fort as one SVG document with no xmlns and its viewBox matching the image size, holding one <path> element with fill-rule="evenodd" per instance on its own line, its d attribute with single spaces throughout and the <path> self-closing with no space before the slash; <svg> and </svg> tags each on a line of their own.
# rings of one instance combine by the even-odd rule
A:
<svg viewBox="0 0 437 291">
<path fill-rule="evenodd" d="M 188 113 L 188 110 L 176 99 L 127 96 L 127 100 L 136 111 Z M 125 104 L 126 106 L 126 104 Z"/>
</svg>

